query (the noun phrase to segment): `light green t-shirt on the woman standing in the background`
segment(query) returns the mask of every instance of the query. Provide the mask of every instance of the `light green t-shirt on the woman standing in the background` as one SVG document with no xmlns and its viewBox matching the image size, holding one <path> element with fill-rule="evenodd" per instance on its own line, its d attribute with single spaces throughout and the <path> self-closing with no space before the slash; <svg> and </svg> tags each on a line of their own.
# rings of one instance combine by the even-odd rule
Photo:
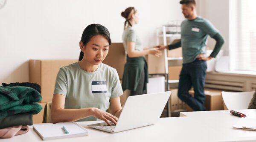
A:
<svg viewBox="0 0 256 142">
<path fill-rule="evenodd" d="M 142 41 L 137 35 L 136 31 L 132 27 L 125 28 L 122 35 L 123 44 L 125 47 L 125 52 L 127 53 L 127 43 L 128 41 L 135 42 L 135 50 L 143 51 Z"/>
</svg>

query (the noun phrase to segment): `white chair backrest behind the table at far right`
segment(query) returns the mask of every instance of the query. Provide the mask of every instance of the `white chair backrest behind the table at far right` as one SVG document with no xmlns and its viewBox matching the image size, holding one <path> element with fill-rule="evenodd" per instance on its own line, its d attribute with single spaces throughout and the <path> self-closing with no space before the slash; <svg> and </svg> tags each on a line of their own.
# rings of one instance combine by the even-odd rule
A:
<svg viewBox="0 0 256 142">
<path fill-rule="evenodd" d="M 247 109 L 250 100 L 253 98 L 252 92 L 221 92 L 224 110 Z"/>
</svg>

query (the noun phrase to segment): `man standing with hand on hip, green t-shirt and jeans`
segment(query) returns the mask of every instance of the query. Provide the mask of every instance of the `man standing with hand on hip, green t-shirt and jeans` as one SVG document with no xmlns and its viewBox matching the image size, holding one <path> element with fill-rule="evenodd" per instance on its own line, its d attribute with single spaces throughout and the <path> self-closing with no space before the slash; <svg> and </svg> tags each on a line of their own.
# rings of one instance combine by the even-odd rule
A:
<svg viewBox="0 0 256 142">
<path fill-rule="evenodd" d="M 194 111 L 204 111 L 204 82 L 206 61 L 215 58 L 224 43 L 218 30 L 208 20 L 198 16 L 195 0 L 180 1 L 182 13 L 186 20 L 181 23 L 181 40 L 168 46 L 159 45 L 160 49 L 175 49 L 182 46 L 183 65 L 180 72 L 178 97 Z M 215 39 L 216 44 L 210 56 L 205 55 L 208 35 Z M 194 87 L 194 97 L 189 94 Z"/>
</svg>

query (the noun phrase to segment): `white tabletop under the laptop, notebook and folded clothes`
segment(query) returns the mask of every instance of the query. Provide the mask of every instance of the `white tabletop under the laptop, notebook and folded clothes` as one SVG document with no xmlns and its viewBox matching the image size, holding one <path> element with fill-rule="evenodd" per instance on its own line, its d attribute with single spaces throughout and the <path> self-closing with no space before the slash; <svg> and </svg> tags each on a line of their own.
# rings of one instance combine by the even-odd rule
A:
<svg viewBox="0 0 256 142">
<path fill-rule="evenodd" d="M 256 110 L 239 110 L 247 116 L 256 116 Z M 107 133 L 88 128 L 98 123 L 78 122 L 90 131 L 89 136 L 47 140 L 49 142 L 215 142 L 256 140 L 256 131 L 234 130 L 239 117 L 231 116 L 227 110 L 183 112 L 187 117 L 160 118 L 150 126 L 126 130 L 119 133 Z M 0 142 L 38 142 L 43 141 L 29 126 L 28 133 Z"/>
</svg>

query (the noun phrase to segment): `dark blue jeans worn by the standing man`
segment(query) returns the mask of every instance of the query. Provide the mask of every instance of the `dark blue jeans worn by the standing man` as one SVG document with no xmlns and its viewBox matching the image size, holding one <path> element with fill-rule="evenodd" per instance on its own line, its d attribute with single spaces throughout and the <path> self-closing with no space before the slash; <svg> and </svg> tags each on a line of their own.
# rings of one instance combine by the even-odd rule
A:
<svg viewBox="0 0 256 142">
<path fill-rule="evenodd" d="M 204 111 L 205 95 L 204 82 L 207 64 L 198 60 L 182 65 L 178 86 L 178 97 L 189 105 L 194 111 Z M 191 86 L 194 87 L 194 97 L 189 94 Z"/>
</svg>

